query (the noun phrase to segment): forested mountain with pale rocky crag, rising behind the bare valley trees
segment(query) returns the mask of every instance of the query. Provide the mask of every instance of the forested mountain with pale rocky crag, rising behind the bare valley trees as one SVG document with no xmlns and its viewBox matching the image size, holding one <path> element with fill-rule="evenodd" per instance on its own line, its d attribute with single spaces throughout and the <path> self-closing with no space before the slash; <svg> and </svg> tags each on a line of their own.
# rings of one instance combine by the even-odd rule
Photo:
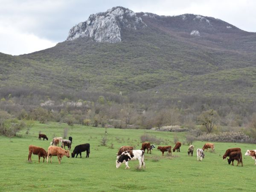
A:
<svg viewBox="0 0 256 192">
<path fill-rule="evenodd" d="M 181 101 L 183 108 L 218 108 L 228 101 L 230 108 L 253 111 L 255 52 L 256 33 L 220 19 L 113 7 L 74 26 L 55 47 L 0 54 L 0 94 L 37 90 L 80 99 L 85 93 L 122 92 L 130 102 L 148 105 Z"/>
</svg>

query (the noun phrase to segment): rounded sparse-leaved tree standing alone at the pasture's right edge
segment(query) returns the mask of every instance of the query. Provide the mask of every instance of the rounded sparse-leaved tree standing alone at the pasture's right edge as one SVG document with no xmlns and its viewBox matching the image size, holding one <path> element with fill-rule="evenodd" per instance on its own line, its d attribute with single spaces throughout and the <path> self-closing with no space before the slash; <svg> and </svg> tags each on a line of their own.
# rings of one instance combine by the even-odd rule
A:
<svg viewBox="0 0 256 192">
<path fill-rule="evenodd" d="M 208 110 L 208 111 L 203 111 L 199 116 L 198 116 L 198 122 L 201 125 L 204 125 L 208 131 L 208 133 L 212 132 L 212 129 L 215 125 L 216 122 L 219 121 L 219 116 L 216 111 Z"/>
</svg>

